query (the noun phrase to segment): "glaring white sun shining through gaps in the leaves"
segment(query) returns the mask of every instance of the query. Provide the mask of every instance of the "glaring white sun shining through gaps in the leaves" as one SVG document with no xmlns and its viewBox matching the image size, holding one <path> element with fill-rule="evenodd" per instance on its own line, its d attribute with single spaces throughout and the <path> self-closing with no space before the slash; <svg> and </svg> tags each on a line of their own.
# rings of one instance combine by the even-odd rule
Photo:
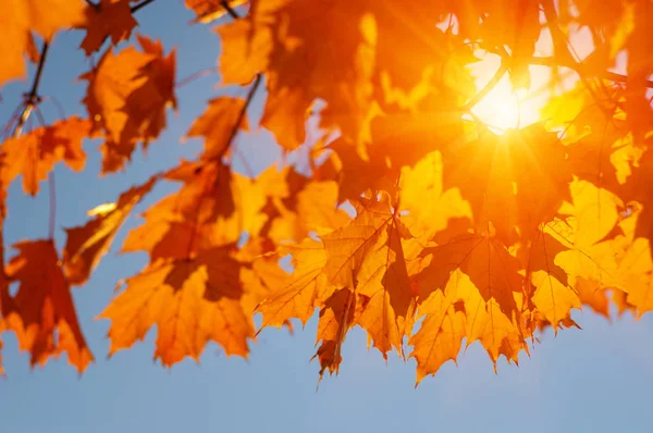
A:
<svg viewBox="0 0 653 433">
<path fill-rule="evenodd" d="M 492 79 L 500 66 L 498 55 L 486 54 L 483 60 L 471 65 L 477 89 L 481 89 Z M 546 85 L 549 76 L 542 69 L 531 70 L 531 88 Z M 471 112 L 495 134 L 505 134 L 509 129 L 528 126 L 540 120 L 540 109 L 546 98 L 526 89 L 514 90 L 508 74 L 485 95 Z"/>
</svg>

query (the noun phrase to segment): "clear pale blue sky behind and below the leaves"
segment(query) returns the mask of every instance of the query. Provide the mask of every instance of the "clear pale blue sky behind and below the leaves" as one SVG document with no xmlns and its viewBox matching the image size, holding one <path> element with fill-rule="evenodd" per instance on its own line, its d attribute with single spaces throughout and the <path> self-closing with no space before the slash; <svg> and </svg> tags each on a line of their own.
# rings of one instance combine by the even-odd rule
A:
<svg viewBox="0 0 653 433">
<path fill-rule="evenodd" d="M 188 25 L 193 13 L 182 0 L 157 0 L 138 12 L 139 30 L 177 47 L 177 77 L 215 66 L 220 46 L 210 26 Z M 229 20 L 229 17 L 224 18 Z M 78 101 L 85 83 L 74 81 L 88 70 L 76 47 L 81 33 L 59 35 L 49 52 L 41 95 L 56 97 L 65 114 L 85 115 Z M 0 61 L 1 67 L 1 61 Z M 64 166 L 56 171 L 58 245 L 61 227 L 86 221 L 85 212 L 114 200 L 151 173 L 173 166 L 181 157 L 193 158 L 199 140 L 180 145 L 206 101 L 220 91 L 219 76 L 210 75 L 180 88 L 180 113 L 169 115 L 169 128 L 153 143 L 147 157 L 135 153 L 125 173 L 99 178 L 97 143 L 87 141 L 83 174 Z M 20 103 L 29 83 L 2 90 L 0 121 Z M 239 90 L 245 94 L 246 90 Z M 260 111 L 262 94 L 254 111 Z M 48 122 L 59 117 L 57 107 L 45 102 Z M 270 136 L 260 131 L 238 138 L 238 148 L 259 170 L 276 158 Z M 262 150 L 266 149 L 266 150 Z M 47 185 L 44 184 L 47 190 Z M 160 185 L 137 211 L 172 190 Z M 10 191 L 7 222 L 9 244 L 46 237 L 48 196 L 22 195 L 20 183 Z M 138 212 L 136 212 L 138 213 Z M 96 362 L 79 378 L 65 359 L 29 369 L 27 354 L 19 352 L 12 334 L 4 334 L 0 380 L 0 432 L 644 432 L 653 425 L 649 389 L 653 386 L 653 319 L 615 323 L 590 311 L 575 319 L 583 331 L 546 333 L 520 366 L 503 360 L 495 374 L 480 345 L 472 345 L 458 366 L 446 363 L 435 378 L 415 389 L 415 362 L 391 355 L 386 363 L 377 350 L 368 351 L 364 332 L 349 333 L 337 378 L 324 378 L 316 392 L 319 364 L 315 352 L 317 318 L 295 335 L 266 330 L 251 345 L 246 361 L 227 358 L 209 345 L 197 364 L 186 360 L 167 370 L 152 362 L 155 330 L 143 344 L 106 359 L 109 321 L 94 318 L 113 296 L 120 277 L 136 273 L 145 255 L 118 256 L 133 216 L 90 281 L 74 289 L 83 330 Z M 11 253 L 8 251 L 8 257 Z"/>
</svg>

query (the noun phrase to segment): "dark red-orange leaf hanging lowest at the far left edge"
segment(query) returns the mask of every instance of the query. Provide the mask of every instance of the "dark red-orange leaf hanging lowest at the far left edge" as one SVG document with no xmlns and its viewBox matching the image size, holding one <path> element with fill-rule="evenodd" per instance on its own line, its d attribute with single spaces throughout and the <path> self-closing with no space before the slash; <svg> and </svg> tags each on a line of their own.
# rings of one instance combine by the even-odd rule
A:
<svg viewBox="0 0 653 433">
<path fill-rule="evenodd" d="M 52 240 L 14 245 L 19 253 L 7 264 L 10 282 L 19 282 L 11 309 L 3 311 L 19 345 L 32 354 L 32 366 L 67 352 L 69 362 L 83 372 L 94 357 L 79 327 L 70 286 Z"/>
</svg>

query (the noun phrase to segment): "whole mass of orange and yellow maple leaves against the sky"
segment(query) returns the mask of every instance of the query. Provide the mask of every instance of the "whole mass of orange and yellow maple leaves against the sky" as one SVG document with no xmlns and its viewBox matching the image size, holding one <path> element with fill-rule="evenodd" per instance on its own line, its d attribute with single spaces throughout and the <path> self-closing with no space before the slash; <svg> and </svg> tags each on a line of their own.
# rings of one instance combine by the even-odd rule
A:
<svg viewBox="0 0 653 433">
<path fill-rule="evenodd" d="M 0 5 L 0 86 L 25 77 L 25 57 L 38 63 L 17 125 L 0 145 L 2 218 L 19 177 L 34 196 L 57 163 L 83 170 L 85 138 L 99 140 L 110 175 L 165 128 L 168 109 L 176 109 L 175 51 L 132 36 L 136 12 L 150 2 Z M 110 355 L 156 325 L 155 358 L 164 366 L 197 360 L 210 341 L 246 357 L 262 329 L 306 324 L 318 310 L 320 375 L 338 371 L 346 335 L 360 326 L 383 357 L 415 358 L 419 382 L 477 341 L 495 364 L 502 356 L 516 363 L 543 330 L 578 326 L 571 312 L 583 306 L 607 318 L 614 307 L 638 317 L 653 309 L 646 0 L 186 7 L 193 25 L 222 18 L 218 69 L 247 97 L 209 100 L 185 135 L 204 139 L 197 159 L 90 211 L 65 230 L 61 251 L 52 233 L 12 247 L 0 330 L 15 333 L 33 364 L 66 352 L 82 372 L 94 360 L 71 288 L 88 281 L 133 209 L 163 182 L 178 189 L 145 210 L 121 249 L 149 261 L 119 282 L 98 316 L 111 321 Z M 586 27 L 593 51 L 579 60 L 567 41 Z M 86 113 L 23 132 L 48 44 L 64 29 L 84 34 L 81 55 L 101 51 L 79 75 Z M 535 54 L 544 33 L 549 58 Z M 530 88 L 531 65 L 552 70 L 540 122 L 498 135 L 470 114 L 489 90 L 469 72 L 479 52 L 500 55 L 497 78 L 507 74 L 515 88 Z M 620 52 L 625 75 L 611 72 Z M 556 87 L 563 69 L 574 86 Z M 262 85 L 252 125 L 247 110 Z M 307 133 L 311 116 L 317 140 Z M 234 138 L 258 127 L 284 153 L 306 151 L 309 169 L 233 170 Z"/>
</svg>

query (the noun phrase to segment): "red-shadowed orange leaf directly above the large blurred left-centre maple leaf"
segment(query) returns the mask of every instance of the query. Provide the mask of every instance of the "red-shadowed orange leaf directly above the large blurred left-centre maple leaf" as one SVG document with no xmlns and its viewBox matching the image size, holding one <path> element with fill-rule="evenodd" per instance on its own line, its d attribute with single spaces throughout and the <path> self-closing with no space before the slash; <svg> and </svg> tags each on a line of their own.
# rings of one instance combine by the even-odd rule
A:
<svg viewBox="0 0 653 433">
<path fill-rule="evenodd" d="M 183 162 L 163 175 L 182 188 L 145 212 L 146 222 L 127 235 L 122 252 L 145 250 L 150 259 L 193 257 L 257 233 L 262 193 L 222 163 Z"/>
</svg>

